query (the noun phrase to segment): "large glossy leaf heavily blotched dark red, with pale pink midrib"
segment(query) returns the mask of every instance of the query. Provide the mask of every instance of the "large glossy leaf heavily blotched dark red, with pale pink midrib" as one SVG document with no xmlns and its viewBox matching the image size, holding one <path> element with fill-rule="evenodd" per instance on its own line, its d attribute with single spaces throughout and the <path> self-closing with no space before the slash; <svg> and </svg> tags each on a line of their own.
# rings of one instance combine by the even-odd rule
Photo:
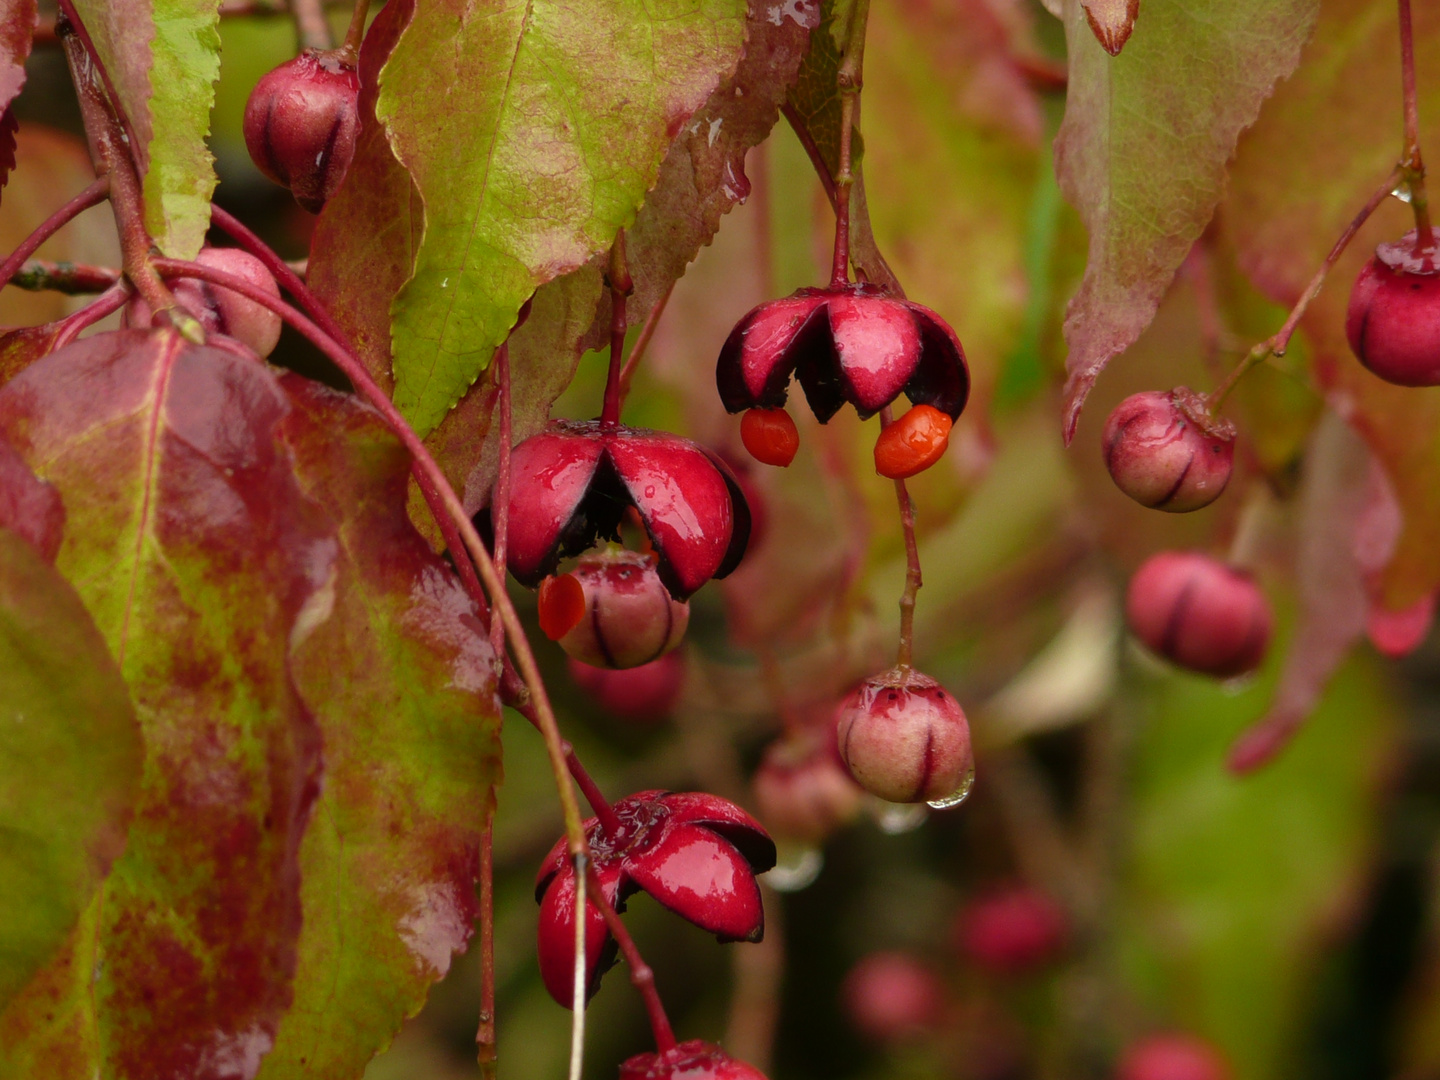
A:
<svg viewBox="0 0 1440 1080">
<path fill-rule="evenodd" d="M 68 346 L 0 389 L 0 432 L 59 490 L 58 569 L 145 743 L 128 847 L 55 963 L 0 1014 L 0 1074 L 249 1080 L 291 1002 L 320 739 L 288 641 L 336 540 L 252 360 L 174 331 Z"/>
</svg>

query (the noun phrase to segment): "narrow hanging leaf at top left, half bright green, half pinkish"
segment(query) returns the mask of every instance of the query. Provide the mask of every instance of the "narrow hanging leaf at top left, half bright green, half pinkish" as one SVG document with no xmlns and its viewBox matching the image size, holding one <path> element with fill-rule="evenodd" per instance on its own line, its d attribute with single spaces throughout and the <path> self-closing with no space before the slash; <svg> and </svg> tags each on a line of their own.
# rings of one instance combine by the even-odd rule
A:
<svg viewBox="0 0 1440 1080">
<path fill-rule="evenodd" d="M 144 170 L 145 228 L 193 259 L 210 226 L 210 131 L 220 75 L 219 0 L 76 0 Z"/>
</svg>

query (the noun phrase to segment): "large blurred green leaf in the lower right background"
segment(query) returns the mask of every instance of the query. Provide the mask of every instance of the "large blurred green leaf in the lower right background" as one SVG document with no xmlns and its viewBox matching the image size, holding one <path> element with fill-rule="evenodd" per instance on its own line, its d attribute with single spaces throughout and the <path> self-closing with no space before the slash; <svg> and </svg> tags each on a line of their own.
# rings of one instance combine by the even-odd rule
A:
<svg viewBox="0 0 1440 1080">
<path fill-rule="evenodd" d="M 1274 668 L 1243 694 L 1182 674 L 1138 687 L 1125 811 L 1119 949 L 1133 1022 L 1215 1040 L 1237 1080 L 1289 1076 L 1313 955 L 1364 880 L 1395 736 L 1394 704 L 1352 661 L 1284 757 L 1231 775 L 1225 747 L 1263 708 Z"/>
</svg>

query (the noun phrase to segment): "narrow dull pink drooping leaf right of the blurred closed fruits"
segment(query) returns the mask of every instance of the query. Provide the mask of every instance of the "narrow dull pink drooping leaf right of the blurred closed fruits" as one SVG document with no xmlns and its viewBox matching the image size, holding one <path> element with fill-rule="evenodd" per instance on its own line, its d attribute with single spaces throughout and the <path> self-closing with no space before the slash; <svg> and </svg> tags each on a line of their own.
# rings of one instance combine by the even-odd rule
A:
<svg viewBox="0 0 1440 1080">
<path fill-rule="evenodd" d="M 1230 750 L 1236 772 L 1257 769 L 1284 749 L 1365 632 L 1369 595 L 1356 541 L 1372 520 L 1374 488 L 1369 449 L 1344 420 L 1326 413 L 1310 439 L 1300 488 L 1295 638 L 1270 710 Z M 1384 539 L 1378 543 L 1384 546 Z"/>
</svg>

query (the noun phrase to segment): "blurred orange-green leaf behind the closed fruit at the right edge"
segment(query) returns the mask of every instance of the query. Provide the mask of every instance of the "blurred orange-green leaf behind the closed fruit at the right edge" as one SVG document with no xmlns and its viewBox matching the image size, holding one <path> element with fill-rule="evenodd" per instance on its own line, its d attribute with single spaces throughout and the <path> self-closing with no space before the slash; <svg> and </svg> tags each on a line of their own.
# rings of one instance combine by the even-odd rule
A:
<svg viewBox="0 0 1440 1080">
<path fill-rule="evenodd" d="M 1440 9 L 1418 4 L 1414 32 L 1416 63 L 1440 71 Z M 1299 300 L 1335 238 L 1394 168 L 1400 137 L 1375 118 L 1398 114 L 1398 69 L 1392 4 L 1328 3 L 1305 63 L 1241 140 L 1221 222 L 1241 268 L 1272 300 Z M 1433 145 L 1440 82 L 1421 79 L 1418 94 L 1421 143 Z M 1305 183 L 1295 183 L 1296 170 Z M 1378 582 L 1380 602 L 1394 611 L 1440 588 L 1440 389 L 1391 386 L 1367 372 L 1345 340 L 1345 308 L 1375 245 L 1411 228 L 1408 207 L 1381 206 L 1300 324 L 1316 382 L 1380 458 L 1400 501 L 1404 530 Z"/>
</svg>

